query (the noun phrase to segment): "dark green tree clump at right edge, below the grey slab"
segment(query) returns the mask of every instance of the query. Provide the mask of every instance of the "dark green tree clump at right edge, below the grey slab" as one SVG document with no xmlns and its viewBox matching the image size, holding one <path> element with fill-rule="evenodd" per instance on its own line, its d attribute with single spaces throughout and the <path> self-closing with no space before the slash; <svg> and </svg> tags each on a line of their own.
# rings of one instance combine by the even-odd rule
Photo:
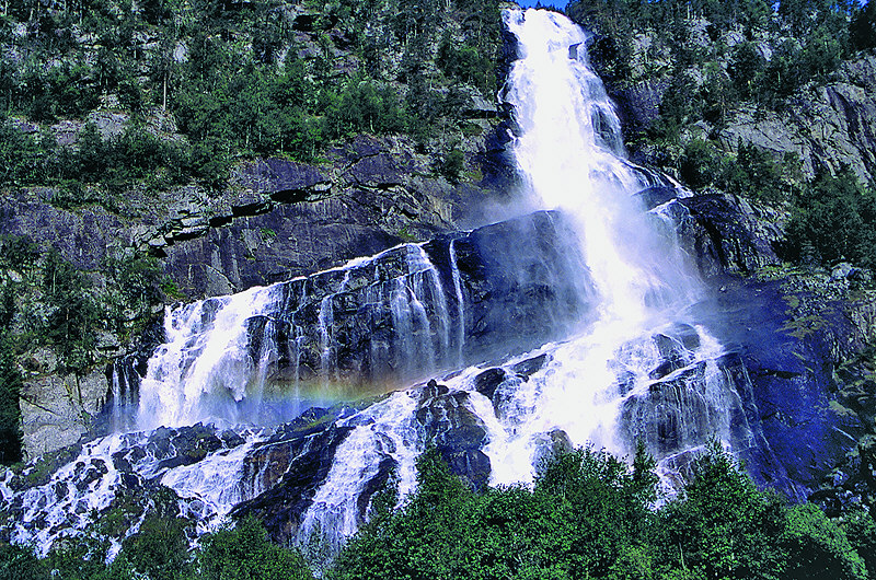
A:
<svg viewBox="0 0 876 580">
<path fill-rule="evenodd" d="M 792 259 L 876 266 L 876 195 L 848 169 L 819 174 L 794 199 L 787 227 Z"/>
</svg>

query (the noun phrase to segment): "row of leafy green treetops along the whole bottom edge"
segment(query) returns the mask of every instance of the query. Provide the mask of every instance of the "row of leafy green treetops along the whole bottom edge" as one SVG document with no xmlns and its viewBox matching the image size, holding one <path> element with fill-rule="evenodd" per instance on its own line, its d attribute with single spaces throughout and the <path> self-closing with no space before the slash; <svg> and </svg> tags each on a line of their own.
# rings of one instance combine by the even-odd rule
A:
<svg viewBox="0 0 876 580">
<path fill-rule="evenodd" d="M 342 549 L 328 579 L 572 580 L 864 579 L 876 524 L 863 510 L 839 521 L 816 506 L 786 506 L 757 489 L 717 443 L 692 465 L 683 492 L 655 508 L 655 462 L 639 443 L 632 466 L 591 448 L 552 456 L 532 488 L 473 492 L 440 454 L 417 461 L 418 489 L 401 508 L 395 476 L 376 494 L 369 521 Z M 161 496 L 161 497 L 159 497 Z M 68 538 L 46 560 L 0 544 L 0 573 L 15 578 L 153 580 L 311 579 L 296 549 L 272 544 L 245 519 L 188 553 L 170 492 L 105 565 L 108 543 Z M 313 549 L 304 546 L 311 555 Z M 12 578 L 10 576 L 7 576 Z M 1 577 L 0 577 L 1 578 Z"/>
</svg>

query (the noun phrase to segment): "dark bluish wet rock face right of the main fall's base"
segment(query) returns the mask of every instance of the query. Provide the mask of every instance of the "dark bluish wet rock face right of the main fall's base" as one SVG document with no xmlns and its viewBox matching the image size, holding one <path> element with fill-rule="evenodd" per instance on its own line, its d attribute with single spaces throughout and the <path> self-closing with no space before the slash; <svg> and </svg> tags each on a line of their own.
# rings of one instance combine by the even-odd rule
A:
<svg viewBox="0 0 876 580">
<path fill-rule="evenodd" d="M 748 469 L 758 483 L 805 499 L 872 429 L 842 405 L 834 373 L 872 339 L 860 316 L 866 305 L 825 275 L 717 283 L 699 314 L 733 355 L 729 378 L 745 386 L 742 408 L 762 432 Z"/>
</svg>

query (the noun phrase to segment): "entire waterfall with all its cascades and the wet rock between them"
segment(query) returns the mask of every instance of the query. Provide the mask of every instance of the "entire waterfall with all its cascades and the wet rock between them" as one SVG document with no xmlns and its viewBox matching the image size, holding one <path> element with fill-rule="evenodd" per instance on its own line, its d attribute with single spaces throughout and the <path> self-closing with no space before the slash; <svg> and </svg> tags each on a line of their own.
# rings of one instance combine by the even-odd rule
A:
<svg viewBox="0 0 876 580">
<path fill-rule="evenodd" d="M 701 320 L 685 192 L 624 159 L 581 30 L 504 20 L 528 210 L 168 309 L 143 375 L 116 364 L 114 432 L 0 482 L 13 541 L 45 553 L 111 512 L 120 540 L 165 502 L 200 532 L 255 514 L 331 556 L 390 480 L 400 502 L 415 489 L 430 445 L 475 488 L 586 444 L 643 441 L 668 488 L 712 439 L 774 461 L 744 361 Z"/>
</svg>

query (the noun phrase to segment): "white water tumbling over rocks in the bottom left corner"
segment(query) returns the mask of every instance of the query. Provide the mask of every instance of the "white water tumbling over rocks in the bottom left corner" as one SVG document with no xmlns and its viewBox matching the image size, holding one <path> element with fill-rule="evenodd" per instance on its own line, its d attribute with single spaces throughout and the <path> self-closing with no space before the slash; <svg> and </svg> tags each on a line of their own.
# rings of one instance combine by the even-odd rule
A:
<svg viewBox="0 0 876 580">
<path fill-rule="evenodd" d="M 149 433 L 135 432 L 114 433 L 87 443 L 72 461 L 39 486 L 18 490 L 19 480 L 13 489 L 10 485 L 16 477 L 9 469 L 0 480 L 0 496 L 8 506 L 14 503 L 20 510 L 7 523 L 11 540 L 33 545 L 38 554 L 45 555 L 60 537 L 94 533 L 95 523 L 100 525 L 106 511 L 114 507 L 116 511 L 119 507 L 123 511 L 129 510 L 132 515 L 141 512 L 140 521 L 127 527 L 124 536 L 134 534 L 147 514 L 145 503 L 151 501 L 149 492 L 137 499 L 136 487 L 145 485 L 146 480 L 159 482 L 176 491 L 181 514 L 195 519 L 200 533 L 216 530 L 227 523 L 231 508 L 263 491 L 258 486 L 261 478 L 255 477 L 247 484 L 243 472 L 246 457 L 264 434 L 257 431 L 242 434 L 245 442 L 234 448 L 223 446 L 205 454 L 196 463 L 175 467 L 169 466 L 169 462 L 174 464 L 178 452 L 173 443 L 155 446 Z M 126 467 L 120 469 L 117 461 Z M 41 468 L 38 464 L 26 467 L 20 478 L 35 477 Z M 127 498 L 120 506 L 116 502 L 119 497 Z M 122 538 L 114 538 L 118 540 Z"/>
</svg>

